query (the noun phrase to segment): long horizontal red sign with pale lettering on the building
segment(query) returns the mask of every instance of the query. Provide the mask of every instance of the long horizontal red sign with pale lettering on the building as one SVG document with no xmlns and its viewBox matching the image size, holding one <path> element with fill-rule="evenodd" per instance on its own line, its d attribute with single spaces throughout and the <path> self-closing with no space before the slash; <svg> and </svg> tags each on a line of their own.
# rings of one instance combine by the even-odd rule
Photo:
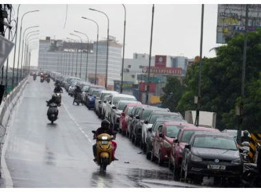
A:
<svg viewBox="0 0 261 192">
<path fill-rule="evenodd" d="M 148 73 L 148 67 L 143 67 L 142 72 Z M 167 74 L 167 75 L 182 75 L 182 68 L 150 67 L 150 73 Z"/>
</svg>

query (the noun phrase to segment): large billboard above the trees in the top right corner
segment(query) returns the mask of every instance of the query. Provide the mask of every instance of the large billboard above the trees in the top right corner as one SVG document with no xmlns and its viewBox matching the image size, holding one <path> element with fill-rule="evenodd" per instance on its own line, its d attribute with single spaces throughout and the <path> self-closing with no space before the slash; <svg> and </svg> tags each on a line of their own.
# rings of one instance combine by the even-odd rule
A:
<svg viewBox="0 0 261 192">
<path fill-rule="evenodd" d="M 225 44 L 229 38 L 245 32 L 246 3 L 218 3 L 216 43 Z M 261 26 L 261 3 L 249 3 L 249 30 Z M 243 27 L 243 28 L 242 28 Z"/>
</svg>

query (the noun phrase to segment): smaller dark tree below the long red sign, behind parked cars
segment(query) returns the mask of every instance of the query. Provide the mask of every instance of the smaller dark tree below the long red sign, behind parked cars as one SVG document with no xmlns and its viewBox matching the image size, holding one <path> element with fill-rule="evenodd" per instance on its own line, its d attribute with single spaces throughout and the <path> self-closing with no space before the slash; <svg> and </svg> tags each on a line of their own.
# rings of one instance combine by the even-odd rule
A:
<svg viewBox="0 0 261 192">
<path fill-rule="evenodd" d="M 161 97 L 162 107 L 169 108 L 170 111 L 176 112 L 179 100 L 185 93 L 185 86 L 181 84 L 177 77 L 168 77 L 168 84 L 162 88 L 165 95 Z"/>
</svg>

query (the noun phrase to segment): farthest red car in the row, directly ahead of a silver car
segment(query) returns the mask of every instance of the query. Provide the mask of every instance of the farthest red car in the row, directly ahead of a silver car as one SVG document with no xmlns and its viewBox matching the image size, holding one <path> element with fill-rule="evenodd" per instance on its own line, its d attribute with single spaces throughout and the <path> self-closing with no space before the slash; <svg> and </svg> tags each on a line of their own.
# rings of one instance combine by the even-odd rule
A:
<svg viewBox="0 0 261 192">
<path fill-rule="evenodd" d="M 128 118 L 131 115 L 131 112 L 135 106 L 142 106 L 142 104 L 128 104 L 122 114 L 120 115 L 120 132 L 122 132 L 123 135 L 126 135 L 127 132 L 127 126 L 128 126 Z M 126 121 L 127 120 L 127 121 Z"/>
</svg>

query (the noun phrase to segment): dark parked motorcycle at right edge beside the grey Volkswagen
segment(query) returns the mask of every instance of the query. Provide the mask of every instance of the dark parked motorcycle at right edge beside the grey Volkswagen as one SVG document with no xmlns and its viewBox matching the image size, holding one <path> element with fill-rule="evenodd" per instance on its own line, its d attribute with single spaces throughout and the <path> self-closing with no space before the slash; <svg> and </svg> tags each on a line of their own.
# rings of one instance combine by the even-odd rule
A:
<svg viewBox="0 0 261 192">
<path fill-rule="evenodd" d="M 260 152 L 260 144 L 256 147 L 257 151 Z M 256 160 L 257 164 L 245 164 L 244 173 L 242 176 L 242 189 L 261 189 L 261 168 L 258 165 L 260 156 Z"/>
</svg>

